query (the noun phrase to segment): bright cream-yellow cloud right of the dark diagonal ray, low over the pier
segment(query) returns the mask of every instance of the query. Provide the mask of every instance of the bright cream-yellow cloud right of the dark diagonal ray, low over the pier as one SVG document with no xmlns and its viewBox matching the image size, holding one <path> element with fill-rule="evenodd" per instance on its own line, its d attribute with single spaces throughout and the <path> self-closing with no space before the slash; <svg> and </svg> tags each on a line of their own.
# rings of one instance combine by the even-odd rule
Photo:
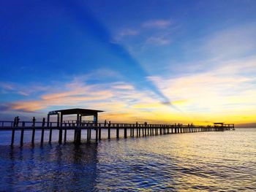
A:
<svg viewBox="0 0 256 192">
<path fill-rule="evenodd" d="M 244 58 L 206 72 L 148 79 L 166 96 L 177 101 L 177 107 L 200 120 L 222 118 L 237 122 L 256 118 L 253 115 L 256 112 L 255 73 L 256 58 Z M 239 117 L 241 113 L 248 118 Z"/>
</svg>

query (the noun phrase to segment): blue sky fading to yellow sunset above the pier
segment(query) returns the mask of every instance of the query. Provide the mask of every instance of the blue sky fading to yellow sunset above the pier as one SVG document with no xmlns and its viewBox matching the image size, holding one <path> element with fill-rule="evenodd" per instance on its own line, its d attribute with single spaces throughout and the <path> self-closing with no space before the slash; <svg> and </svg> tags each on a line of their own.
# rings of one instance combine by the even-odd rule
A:
<svg viewBox="0 0 256 192">
<path fill-rule="evenodd" d="M 1 120 L 256 123 L 254 0 L 0 4 Z"/>
</svg>

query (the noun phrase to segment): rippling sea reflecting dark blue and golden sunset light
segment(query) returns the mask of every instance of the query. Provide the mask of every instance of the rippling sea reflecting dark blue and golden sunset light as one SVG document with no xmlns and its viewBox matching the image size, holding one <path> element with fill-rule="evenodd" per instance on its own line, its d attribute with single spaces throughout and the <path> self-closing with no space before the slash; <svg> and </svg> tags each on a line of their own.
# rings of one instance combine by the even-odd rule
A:
<svg viewBox="0 0 256 192">
<path fill-rule="evenodd" d="M 47 135 L 47 131 L 45 132 Z M 86 133 L 82 133 L 86 139 Z M 0 191 L 256 191 L 256 128 L 10 147 L 0 131 Z M 114 136 L 114 132 L 112 133 Z M 94 133 L 92 133 L 92 136 Z"/>
</svg>

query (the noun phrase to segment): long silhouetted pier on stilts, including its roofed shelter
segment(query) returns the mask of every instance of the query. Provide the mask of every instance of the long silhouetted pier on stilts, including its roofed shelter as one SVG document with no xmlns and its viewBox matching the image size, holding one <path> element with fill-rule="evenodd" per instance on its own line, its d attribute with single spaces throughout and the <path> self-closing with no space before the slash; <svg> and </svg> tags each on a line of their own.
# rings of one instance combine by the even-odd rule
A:
<svg viewBox="0 0 256 192">
<path fill-rule="evenodd" d="M 182 124 L 148 124 L 148 123 L 99 123 L 99 110 L 70 109 L 56 110 L 48 113 L 47 122 L 34 121 L 0 121 L 0 131 L 12 131 L 11 145 L 14 145 L 15 132 L 20 131 L 20 146 L 23 146 L 24 131 L 32 131 L 31 144 L 34 145 L 34 137 L 36 131 L 41 133 L 41 144 L 45 141 L 45 130 L 49 131 L 49 139 L 52 142 L 53 130 L 59 131 L 59 144 L 67 142 L 67 131 L 74 131 L 74 142 L 79 144 L 82 140 L 82 130 L 86 130 L 86 142 L 92 139 L 98 142 L 102 139 L 102 130 L 108 131 L 108 139 L 119 137 L 152 137 L 165 134 L 185 134 L 205 131 L 227 131 L 234 130 L 234 124 L 214 123 L 214 126 L 195 126 Z M 57 120 L 50 121 L 50 115 L 56 115 Z M 76 120 L 63 120 L 64 115 L 76 115 Z M 93 121 L 82 120 L 83 116 L 93 116 Z M 121 131 L 123 134 L 121 136 Z M 111 138 L 111 133 L 115 132 L 116 137 Z"/>
</svg>

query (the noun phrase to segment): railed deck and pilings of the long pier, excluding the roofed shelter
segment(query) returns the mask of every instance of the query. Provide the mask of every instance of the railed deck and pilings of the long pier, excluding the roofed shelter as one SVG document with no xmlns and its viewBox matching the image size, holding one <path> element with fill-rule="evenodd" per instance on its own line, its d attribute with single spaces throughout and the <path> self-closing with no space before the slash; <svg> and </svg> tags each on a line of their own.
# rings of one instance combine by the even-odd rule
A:
<svg viewBox="0 0 256 192">
<path fill-rule="evenodd" d="M 87 141 L 91 140 L 91 131 L 95 132 L 95 140 L 101 140 L 102 129 L 108 130 L 108 139 L 111 131 L 116 131 L 116 138 L 119 138 L 119 130 L 124 130 L 124 138 L 127 137 L 147 137 L 162 134 L 183 134 L 203 131 L 226 131 L 231 130 L 230 126 L 195 126 L 192 124 L 148 124 L 148 123 L 91 123 L 82 121 L 72 122 L 31 122 L 31 121 L 6 121 L 0 120 L 0 131 L 12 131 L 12 142 L 14 144 L 15 131 L 20 131 L 20 146 L 23 145 L 23 134 L 25 130 L 31 130 L 31 143 L 34 144 L 35 131 L 41 131 L 41 143 L 44 142 L 45 130 L 49 130 L 49 142 L 52 140 L 52 131 L 59 131 L 59 143 L 67 141 L 67 130 L 74 130 L 74 141 L 80 143 L 81 130 L 87 130 Z M 63 139 L 64 131 L 64 139 Z M 128 136 L 129 134 L 129 136 Z"/>
</svg>

